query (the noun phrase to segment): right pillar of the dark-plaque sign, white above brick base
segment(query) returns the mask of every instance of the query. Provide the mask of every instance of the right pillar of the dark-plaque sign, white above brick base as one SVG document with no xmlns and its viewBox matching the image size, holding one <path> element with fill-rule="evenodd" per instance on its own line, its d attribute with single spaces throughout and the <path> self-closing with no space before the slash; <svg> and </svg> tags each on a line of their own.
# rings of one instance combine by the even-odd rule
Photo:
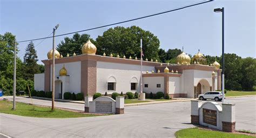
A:
<svg viewBox="0 0 256 138">
<path fill-rule="evenodd" d="M 235 131 L 235 104 L 222 103 L 222 129 L 224 132 Z"/>
</svg>

